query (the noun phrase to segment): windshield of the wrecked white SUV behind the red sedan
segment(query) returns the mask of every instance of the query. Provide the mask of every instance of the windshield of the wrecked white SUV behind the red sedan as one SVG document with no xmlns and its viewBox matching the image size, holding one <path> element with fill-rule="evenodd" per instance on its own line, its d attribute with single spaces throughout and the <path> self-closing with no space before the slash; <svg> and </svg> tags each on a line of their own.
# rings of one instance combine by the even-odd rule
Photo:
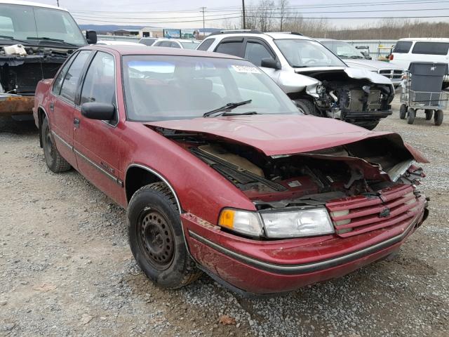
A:
<svg viewBox="0 0 449 337">
<path fill-rule="evenodd" d="M 292 67 L 346 67 L 340 58 L 317 41 L 277 39 L 274 43 Z"/>
</svg>

